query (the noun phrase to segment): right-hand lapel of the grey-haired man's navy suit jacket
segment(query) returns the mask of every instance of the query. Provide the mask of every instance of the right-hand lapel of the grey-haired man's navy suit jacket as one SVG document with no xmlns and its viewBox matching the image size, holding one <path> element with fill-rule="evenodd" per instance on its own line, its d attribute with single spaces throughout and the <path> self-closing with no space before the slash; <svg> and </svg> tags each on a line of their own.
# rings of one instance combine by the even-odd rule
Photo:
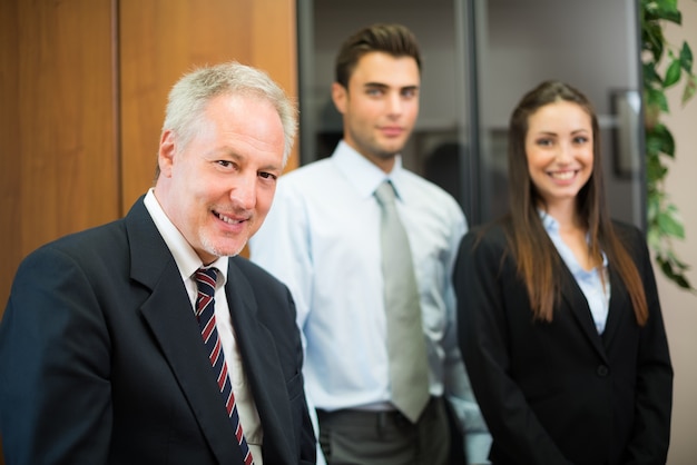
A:
<svg viewBox="0 0 697 465">
<path fill-rule="evenodd" d="M 285 432 L 293 425 L 286 380 L 271 332 L 258 319 L 258 307 L 247 277 L 229 260 L 226 294 L 237 346 L 264 428 L 264 462 L 287 463 L 292 447 Z M 273 309 L 271 310 L 273 311 Z"/>
</svg>

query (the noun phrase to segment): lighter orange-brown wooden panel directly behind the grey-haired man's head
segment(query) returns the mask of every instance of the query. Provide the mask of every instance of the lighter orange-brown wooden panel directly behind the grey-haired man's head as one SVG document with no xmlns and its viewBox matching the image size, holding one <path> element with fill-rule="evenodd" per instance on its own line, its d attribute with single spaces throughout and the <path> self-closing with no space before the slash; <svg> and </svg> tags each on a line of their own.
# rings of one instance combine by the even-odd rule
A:
<svg viewBox="0 0 697 465">
<path fill-rule="evenodd" d="M 119 3 L 122 205 L 127 210 L 153 185 L 167 93 L 183 73 L 196 66 L 237 60 L 265 69 L 296 96 L 295 1 Z M 291 164 L 296 165 L 296 159 Z"/>
</svg>

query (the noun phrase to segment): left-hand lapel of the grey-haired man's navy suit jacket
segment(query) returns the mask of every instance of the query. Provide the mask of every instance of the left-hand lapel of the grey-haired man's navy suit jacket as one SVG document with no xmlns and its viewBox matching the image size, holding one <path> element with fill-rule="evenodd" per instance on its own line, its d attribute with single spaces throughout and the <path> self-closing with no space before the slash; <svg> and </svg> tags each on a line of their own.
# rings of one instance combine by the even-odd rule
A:
<svg viewBox="0 0 697 465">
<path fill-rule="evenodd" d="M 244 463 L 217 384 L 212 376 L 198 324 L 176 263 L 143 199 L 126 217 L 131 278 L 151 289 L 141 307 L 200 429 L 220 463 Z"/>
</svg>

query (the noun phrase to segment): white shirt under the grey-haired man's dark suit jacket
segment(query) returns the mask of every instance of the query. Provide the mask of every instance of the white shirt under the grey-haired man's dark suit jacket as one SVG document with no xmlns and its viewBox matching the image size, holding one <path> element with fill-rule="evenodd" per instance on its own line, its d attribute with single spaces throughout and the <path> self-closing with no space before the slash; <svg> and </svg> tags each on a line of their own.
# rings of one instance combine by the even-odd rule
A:
<svg viewBox="0 0 697 465">
<path fill-rule="evenodd" d="M 181 233 L 179 233 L 176 226 L 169 220 L 167 214 L 165 214 L 161 206 L 157 201 L 153 189 L 149 189 L 146 194 L 144 204 L 153 217 L 153 221 L 155 221 L 157 230 L 163 236 L 163 239 L 165 239 L 169 251 L 174 256 L 177 268 L 179 268 L 179 273 L 181 275 L 181 280 L 186 286 L 186 291 L 188 293 L 192 301 L 192 310 L 196 311 L 196 295 L 198 289 L 194 274 L 203 266 L 203 263 L 196 251 L 184 238 Z M 220 345 L 223 346 L 223 354 L 225 355 L 225 363 L 227 364 L 230 383 L 233 385 L 233 393 L 235 394 L 235 404 L 237 405 L 237 410 L 239 413 L 242 431 L 244 432 L 245 439 L 247 439 L 249 451 L 254 457 L 254 463 L 261 465 L 264 463 L 262 457 L 264 432 L 262 429 L 262 422 L 259 421 L 259 415 L 256 410 L 249 384 L 247 383 L 247 377 L 243 370 L 242 357 L 235 342 L 235 332 L 233 328 L 229 308 L 227 306 L 227 297 L 225 295 L 227 261 L 228 257 L 219 257 L 210 264 L 212 267 L 218 269 L 218 278 L 215 290 L 215 324 L 218 330 L 218 337 L 220 338 Z M 222 406 L 225 405 L 222 397 L 220 403 Z M 237 439 L 232 437 L 230 441 Z"/>
</svg>

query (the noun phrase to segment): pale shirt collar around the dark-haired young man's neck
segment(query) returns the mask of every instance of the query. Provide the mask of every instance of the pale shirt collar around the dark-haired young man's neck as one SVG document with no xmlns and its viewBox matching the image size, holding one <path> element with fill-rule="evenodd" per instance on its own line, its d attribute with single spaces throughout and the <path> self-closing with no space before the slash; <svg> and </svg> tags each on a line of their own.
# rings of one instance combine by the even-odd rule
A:
<svg viewBox="0 0 697 465">
<path fill-rule="evenodd" d="M 332 159 L 360 196 L 371 197 L 377 189 L 377 186 L 385 180 L 390 180 L 392 186 L 394 186 L 396 197 L 400 199 L 404 198 L 405 169 L 402 166 L 402 157 L 400 155 L 394 158 L 392 171 L 385 174 L 342 140 L 336 146 Z"/>
</svg>

